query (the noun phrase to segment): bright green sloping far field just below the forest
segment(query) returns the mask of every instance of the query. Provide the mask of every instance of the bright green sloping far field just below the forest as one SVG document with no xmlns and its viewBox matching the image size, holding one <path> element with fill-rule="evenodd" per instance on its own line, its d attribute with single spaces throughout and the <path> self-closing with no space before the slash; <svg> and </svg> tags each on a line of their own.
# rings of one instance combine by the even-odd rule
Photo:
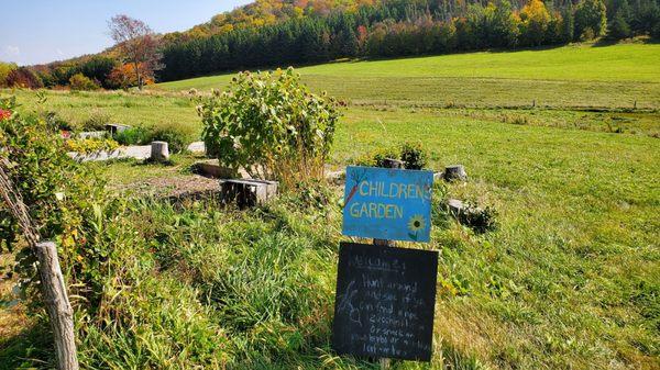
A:
<svg viewBox="0 0 660 370">
<path fill-rule="evenodd" d="M 315 90 L 356 104 L 431 106 L 660 106 L 660 45 L 571 45 L 299 68 Z M 223 89 L 231 75 L 160 83 L 154 89 Z"/>
</svg>

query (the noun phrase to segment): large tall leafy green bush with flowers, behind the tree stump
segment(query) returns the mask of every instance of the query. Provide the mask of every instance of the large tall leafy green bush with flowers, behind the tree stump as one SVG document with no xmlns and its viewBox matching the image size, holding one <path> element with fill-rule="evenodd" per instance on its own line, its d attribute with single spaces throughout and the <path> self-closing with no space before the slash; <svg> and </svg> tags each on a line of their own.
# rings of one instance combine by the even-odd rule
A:
<svg viewBox="0 0 660 370">
<path fill-rule="evenodd" d="M 228 92 L 201 98 L 198 110 L 207 150 L 222 166 L 243 167 L 284 188 L 322 178 L 337 102 L 311 93 L 293 68 L 239 74 Z"/>
</svg>

